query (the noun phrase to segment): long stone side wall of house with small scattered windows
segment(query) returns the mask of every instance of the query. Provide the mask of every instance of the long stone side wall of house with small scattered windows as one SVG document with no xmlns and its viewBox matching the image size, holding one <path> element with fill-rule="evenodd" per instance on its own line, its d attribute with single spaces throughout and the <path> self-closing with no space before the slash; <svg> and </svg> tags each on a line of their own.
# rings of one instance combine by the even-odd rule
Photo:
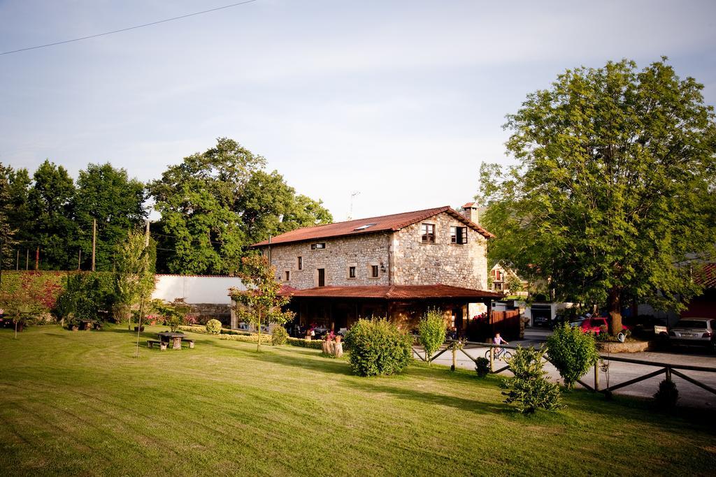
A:
<svg viewBox="0 0 716 477">
<path fill-rule="evenodd" d="M 313 243 L 325 243 L 326 248 L 311 250 Z M 279 282 L 299 289 L 318 286 L 319 268 L 325 270 L 326 286 L 388 285 L 389 247 L 390 235 L 383 233 L 271 245 L 271 265 Z M 266 254 L 267 247 L 262 252 Z M 377 278 L 370 276 L 372 265 L 378 267 Z M 349 277 L 349 267 L 356 267 L 355 278 Z"/>
</svg>

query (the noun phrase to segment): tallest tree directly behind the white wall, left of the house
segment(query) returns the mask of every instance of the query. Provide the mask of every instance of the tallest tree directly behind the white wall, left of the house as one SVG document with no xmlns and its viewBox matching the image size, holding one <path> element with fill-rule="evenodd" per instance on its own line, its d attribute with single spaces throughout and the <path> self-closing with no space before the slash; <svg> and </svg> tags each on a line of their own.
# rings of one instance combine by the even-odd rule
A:
<svg viewBox="0 0 716 477">
<path fill-rule="evenodd" d="M 155 209 L 161 213 L 160 269 L 173 273 L 225 274 L 238 270 L 245 237 L 236 211 L 251 174 L 265 159 L 232 139 L 185 157 L 150 183 Z"/>
</svg>

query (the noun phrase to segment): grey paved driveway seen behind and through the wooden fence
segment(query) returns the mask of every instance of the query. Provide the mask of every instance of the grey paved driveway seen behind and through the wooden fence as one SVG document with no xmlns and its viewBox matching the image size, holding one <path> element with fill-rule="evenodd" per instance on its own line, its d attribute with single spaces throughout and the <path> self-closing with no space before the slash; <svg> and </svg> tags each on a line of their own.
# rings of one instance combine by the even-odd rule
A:
<svg viewBox="0 0 716 477">
<path fill-rule="evenodd" d="M 525 332 L 525 340 L 511 341 L 511 345 L 523 345 L 538 346 L 543 343 L 549 335 L 548 330 L 541 329 L 529 329 Z M 488 348 L 473 348 L 465 350 L 473 358 L 478 358 L 485 355 L 485 351 Z M 704 353 L 702 350 L 693 348 L 684 348 L 678 352 L 651 352 L 647 351 L 644 353 L 617 353 L 614 355 L 619 358 L 632 358 L 635 360 L 651 361 L 655 363 L 668 363 L 674 365 L 692 365 L 692 366 L 703 366 L 706 368 L 713 368 L 716 370 L 716 356 Z M 417 359 L 417 358 L 416 358 Z M 447 351 L 440 355 L 434 363 L 441 365 L 451 365 L 452 356 Z M 651 365 L 637 365 L 633 363 L 619 363 L 617 361 L 610 361 L 609 365 L 609 385 L 623 383 L 624 381 L 637 378 L 653 371 L 658 370 L 658 367 Z M 496 363 L 495 366 L 502 367 L 504 363 Z M 475 369 L 475 363 L 463 353 L 458 352 L 458 366 L 465 369 Z M 545 370 L 548 371 L 550 377 L 553 380 L 560 379 L 560 375 L 556 368 L 550 363 L 545 363 Z M 681 371 L 687 376 L 699 380 L 701 383 L 709 385 L 711 388 L 716 388 L 716 372 L 707 373 L 700 371 Z M 511 375 L 509 371 L 500 373 L 503 375 Z M 643 380 L 639 383 L 626 386 L 619 390 L 616 390 L 616 394 L 635 395 L 644 398 L 650 398 L 657 392 L 659 388 L 659 382 L 664 379 L 664 375 L 658 375 L 654 378 Z M 588 385 L 594 385 L 594 371 L 590 371 L 583 378 L 584 383 Z M 679 390 L 679 405 L 697 407 L 697 408 L 712 408 L 716 409 L 716 394 L 712 394 L 707 390 L 699 388 L 692 383 L 683 380 L 677 376 L 673 376 L 674 383 L 677 385 Z M 599 386 L 605 388 L 607 383 L 607 375 L 604 372 L 599 373 Z"/>
</svg>

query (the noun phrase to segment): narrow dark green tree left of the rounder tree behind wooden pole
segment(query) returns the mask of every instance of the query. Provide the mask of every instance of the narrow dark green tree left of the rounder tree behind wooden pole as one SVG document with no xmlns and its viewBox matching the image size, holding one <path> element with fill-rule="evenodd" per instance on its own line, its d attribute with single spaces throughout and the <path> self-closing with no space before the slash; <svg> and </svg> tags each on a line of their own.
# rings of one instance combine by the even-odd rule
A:
<svg viewBox="0 0 716 477">
<path fill-rule="evenodd" d="M 33 175 L 27 197 L 34 245 L 40 250 L 40 268 L 68 270 L 74 262 L 72 247 L 76 227 L 72 222 L 74 182 L 67 170 L 45 160 Z"/>
</svg>

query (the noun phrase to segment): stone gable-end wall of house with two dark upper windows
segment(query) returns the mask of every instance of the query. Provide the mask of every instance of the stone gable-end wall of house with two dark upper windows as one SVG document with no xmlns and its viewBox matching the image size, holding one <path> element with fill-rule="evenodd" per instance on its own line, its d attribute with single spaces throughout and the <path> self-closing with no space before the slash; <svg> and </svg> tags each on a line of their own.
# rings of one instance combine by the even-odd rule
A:
<svg viewBox="0 0 716 477">
<path fill-rule="evenodd" d="M 435 225 L 435 243 L 422 243 L 421 225 Z M 450 227 L 465 227 L 446 213 L 395 232 L 392 240 L 394 285 L 453 285 L 488 289 L 487 239 L 468 227 L 468 243 L 450 243 Z"/>
</svg>

